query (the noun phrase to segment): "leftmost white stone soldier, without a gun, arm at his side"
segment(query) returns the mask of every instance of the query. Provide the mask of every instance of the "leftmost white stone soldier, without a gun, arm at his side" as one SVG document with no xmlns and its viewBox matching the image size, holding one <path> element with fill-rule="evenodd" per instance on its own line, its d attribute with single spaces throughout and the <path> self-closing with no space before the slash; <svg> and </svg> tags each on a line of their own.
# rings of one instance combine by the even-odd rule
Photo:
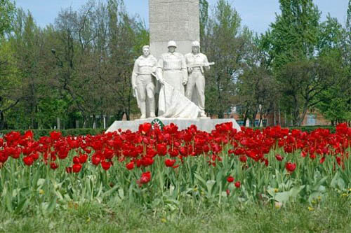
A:
<svg viewBox="0 0 351 233">
<path fill-rule="evenodd" d="M 134 63 L 132 74 L 133 94 L 141 111 L 140 119 L 155 118 L 155 84 L 157 59 L 150 55 L 150 46 L 143 47 L 143 55 Z"/>
</svg>

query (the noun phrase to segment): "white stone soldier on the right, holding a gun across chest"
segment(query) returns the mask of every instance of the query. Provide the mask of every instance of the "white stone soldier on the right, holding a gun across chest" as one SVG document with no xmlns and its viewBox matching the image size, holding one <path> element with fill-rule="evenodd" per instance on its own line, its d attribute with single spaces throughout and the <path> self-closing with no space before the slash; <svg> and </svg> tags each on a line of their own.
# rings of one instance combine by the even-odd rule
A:
<svg viewBox="0 0 351 233">
<path fill-rule="evenodd" d="M 214 63 L 208 63 L 206 55 L 200 52 L 199 41 L 192 43 L 192 52 L 185 55 L 185 61 L 189 73 L 185 96 L 199 106 L 200 117 L 206 118 L 204 69 L 208 71 Z"/>
</svg>

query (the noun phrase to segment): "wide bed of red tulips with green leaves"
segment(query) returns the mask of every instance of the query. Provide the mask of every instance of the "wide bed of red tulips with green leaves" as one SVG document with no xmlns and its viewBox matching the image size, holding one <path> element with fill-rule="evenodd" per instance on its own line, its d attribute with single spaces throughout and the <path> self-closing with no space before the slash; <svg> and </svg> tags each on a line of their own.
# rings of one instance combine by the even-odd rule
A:
<svg viewBox="0 0 351 233">
<path fill-rule="evenodd" d="M 61 136 L 33 133 L 0 138 L 0 206 L 8 211 L 53 211 L 70 202 L 279 202 L 323 199 L 349 192 L 351 128 L 267 127 L 211 133 L 195 126 L 138 132 Z"/>
</svg>

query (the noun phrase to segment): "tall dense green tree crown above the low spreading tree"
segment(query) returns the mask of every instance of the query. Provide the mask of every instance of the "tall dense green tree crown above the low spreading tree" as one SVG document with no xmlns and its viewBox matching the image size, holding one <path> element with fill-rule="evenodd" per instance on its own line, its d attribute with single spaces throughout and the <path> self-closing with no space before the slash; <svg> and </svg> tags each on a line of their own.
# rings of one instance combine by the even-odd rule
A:
<svg viewBox="0 0 351 233">
<path fill-rule="evenodd" d="M 282 13 L 263 36 L 273 68 L 314 57 L 321 13 L 312 0 L 279 0 Z"/>
</svg>

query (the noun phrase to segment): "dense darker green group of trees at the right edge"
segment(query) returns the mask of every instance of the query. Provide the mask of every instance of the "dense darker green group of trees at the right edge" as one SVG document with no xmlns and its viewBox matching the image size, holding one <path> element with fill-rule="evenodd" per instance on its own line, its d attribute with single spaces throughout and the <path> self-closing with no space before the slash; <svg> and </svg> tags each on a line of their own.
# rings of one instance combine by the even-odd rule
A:
<svg viewBox="0 0 351 233">
<path fill-rule="evenodd" d="M 279 1 L 282 13 L 260 36 L 259 47 L 279 87 L 278 107 L 300 125 L 318 108 L 333 122 L 350 115 L 350 43 L 336 18 L 320 22 L 312 0 Z"/>
</svg>

